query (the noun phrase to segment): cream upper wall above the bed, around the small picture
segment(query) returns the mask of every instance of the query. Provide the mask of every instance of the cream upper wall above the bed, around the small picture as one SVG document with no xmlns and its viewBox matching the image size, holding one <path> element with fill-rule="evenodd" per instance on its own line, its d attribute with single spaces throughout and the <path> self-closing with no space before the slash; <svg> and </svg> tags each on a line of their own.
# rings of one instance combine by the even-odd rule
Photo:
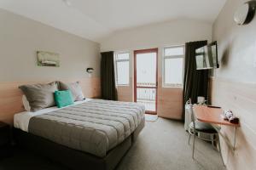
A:
<svg viewBox="0 0 256 170">
<path fill-rule="evenodd" d="M 100 44 L 0 9 L 0 82 L 100 77 Z M 37 65 L 37 51 L 60 54 L 60 67 Z"/>
</svg>

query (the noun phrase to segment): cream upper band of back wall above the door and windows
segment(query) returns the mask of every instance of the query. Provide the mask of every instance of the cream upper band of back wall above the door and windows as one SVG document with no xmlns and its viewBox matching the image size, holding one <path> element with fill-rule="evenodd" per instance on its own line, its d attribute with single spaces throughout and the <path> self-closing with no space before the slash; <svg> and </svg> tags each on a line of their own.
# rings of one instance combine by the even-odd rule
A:
<svg viewBox="0 0 256 170">
<path fill-rule="evenodd" d="M 172 20 L 116 31 L 102 39 L 101 51 L 156 48 L 205 39 L 212 39 L 211 24 L 197 20 Z"/>
</svg>

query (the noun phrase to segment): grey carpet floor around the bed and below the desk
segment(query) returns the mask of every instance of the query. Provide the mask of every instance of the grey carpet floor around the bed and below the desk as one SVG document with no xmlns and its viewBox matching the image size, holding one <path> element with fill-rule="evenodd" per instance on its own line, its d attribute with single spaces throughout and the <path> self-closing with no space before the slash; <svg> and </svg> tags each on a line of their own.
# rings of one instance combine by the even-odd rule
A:
<svg viewBox="0 0 256 170">
<path fill-rule="evenodd" d="M 225 170 L 218 151 L 212 145 L 197 139 L 195 160 L 191 158 L 192 144 L 182 122 L 158 118 L 146 122 L 131 150 L 119 162 L 117 170 Z M 191 140 L 192 143 L 192 140 Z M 0 161 L 1 170 L 66 169 L 26 150 L 15 150 L 15 156 Z"/>
</svg>

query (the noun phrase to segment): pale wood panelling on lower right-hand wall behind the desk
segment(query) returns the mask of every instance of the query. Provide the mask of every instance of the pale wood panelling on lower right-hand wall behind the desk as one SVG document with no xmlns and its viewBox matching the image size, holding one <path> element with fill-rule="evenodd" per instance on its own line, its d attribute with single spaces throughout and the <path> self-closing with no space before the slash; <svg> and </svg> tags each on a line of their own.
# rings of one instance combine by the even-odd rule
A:
<svg viewBox="0 0 256 170">
<path fill-rule="evenodd" d="M 255 169 L 256 167 L 256 84 L 233 82 L 223 78 L 211 79 L 212 105 L 230 109 L 240 118 L 241 127 L 236 136 L 236 150 L 230 150 L 221 140 L 224 162 L 228 169 Z M 222 128 L 227 139 L 233 140 L 234 129 Z"/>
</svg>

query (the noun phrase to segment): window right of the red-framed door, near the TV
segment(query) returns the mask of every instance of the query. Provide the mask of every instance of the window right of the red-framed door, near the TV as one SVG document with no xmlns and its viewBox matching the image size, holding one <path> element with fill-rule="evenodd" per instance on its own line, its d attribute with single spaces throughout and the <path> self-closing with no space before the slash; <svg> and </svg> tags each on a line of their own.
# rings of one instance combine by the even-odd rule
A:
<svg viewBox="0 0 256 170">
<path fill-rule="evenodd" d="M 164 48 L 163 84 L 165 87 L 183 86 L 184 46 Z"/>
</svg>

